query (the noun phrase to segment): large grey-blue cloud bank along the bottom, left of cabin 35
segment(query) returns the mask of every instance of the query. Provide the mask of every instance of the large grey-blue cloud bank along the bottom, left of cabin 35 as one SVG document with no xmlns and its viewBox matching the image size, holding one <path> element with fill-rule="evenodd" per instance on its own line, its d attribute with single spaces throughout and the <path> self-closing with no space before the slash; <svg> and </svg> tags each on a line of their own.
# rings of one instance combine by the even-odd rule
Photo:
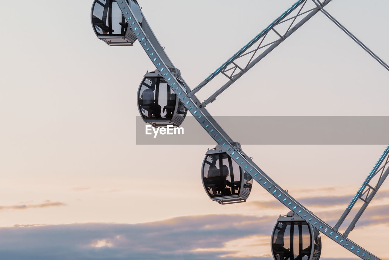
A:
<svg viewBox="0 0 389 260">
<path fill-rule="evenodd" d="M 136 225 L 0 228 L 0 255 L 7 260 L 272 260 L 268 241 L 274 224 L 273 216 L 205 215 Z M 261 249 L 253 254 L 247 248 Z"/>
</svg>

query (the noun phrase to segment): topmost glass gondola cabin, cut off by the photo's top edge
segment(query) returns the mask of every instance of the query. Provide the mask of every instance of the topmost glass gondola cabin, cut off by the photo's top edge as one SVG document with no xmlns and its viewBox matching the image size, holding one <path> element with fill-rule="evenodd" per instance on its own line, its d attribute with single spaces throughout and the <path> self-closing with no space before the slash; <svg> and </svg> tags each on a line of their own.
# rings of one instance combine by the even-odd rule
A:
<svg viewBox="0 0 389 260">
<path fill-rule="evenodd" d="M 136 0 L 126 0 L 137 21 L 142 24 L 142 12 Z M 133 45 L 137 40 L 128 26 L 116 0 L 95 0 L 91 10 L 93 30 L 98 39 L 111 46 Z"/>
</svg>

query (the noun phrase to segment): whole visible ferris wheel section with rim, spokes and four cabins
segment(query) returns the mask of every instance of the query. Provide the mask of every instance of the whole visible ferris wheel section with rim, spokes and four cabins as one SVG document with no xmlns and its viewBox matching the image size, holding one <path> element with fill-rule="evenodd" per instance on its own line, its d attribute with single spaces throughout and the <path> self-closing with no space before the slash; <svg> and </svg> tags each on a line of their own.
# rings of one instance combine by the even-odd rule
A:
<svg viewBox="0 0 389 260">
<path fill-rule="evenodd" d="M 318 12 L 333 21 L 389 71 L 389 66 L 384 61 L 324 9 L 329 2 L 331 0 L 298 0 L 193 90 L 182 78 L 180 70 L 173 65 L 164 47 L 159 44 L 137 0 L 94 0 L 92 5 L 91 21 L 98 39 L 110 46 L 131 46 L 138 41 L 156 67 L 154 71 L 144 75 L 138 88 L 138 110 L 142 119 L 155 127 L 177 127 L 182 124 L 189 111 L 215 140 L 216 147 L 206 152 L 201 170 L 203 187 L 209 198 L 220 204 L 245 202 L 255 180 L 289 209 L 289 213 L 280 215 L 273 228 L 270 246 L 275 260 L 318 260 L 321 254 L 320 233 L 362 259 L 380 260 L 348 239 L 348 235 L 389 174 L 389 145 L 336 225 L 330 226 L 266 175 L 252 161 L 252 157 L 244 153 L 240 143 L 233 141 L 205 109 Z M 173 30 L 166 27 L 166 33 L 173 33 Z M 216 77 L 224 78 L 226 83 L 204 102 L 200 102 L 195 96 L 196 92 Z M 345 232 L 340 233 L 338 229 L 357 201 L 362 206 Z"/>
</svg>

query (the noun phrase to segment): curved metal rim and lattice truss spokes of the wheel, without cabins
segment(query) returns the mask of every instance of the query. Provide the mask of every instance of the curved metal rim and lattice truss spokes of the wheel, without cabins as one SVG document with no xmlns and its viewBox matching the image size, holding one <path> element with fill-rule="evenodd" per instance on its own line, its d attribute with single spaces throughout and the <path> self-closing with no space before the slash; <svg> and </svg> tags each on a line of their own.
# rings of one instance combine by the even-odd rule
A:
<svg viewBox="0 0 389 260">
<path fill-rule="evenodd" d="M 130 0 L 131 2 L 131 0 Z M 315 6 L 308 11 L 302 11 L 303 7 L 307 2 L 314 3 Z M 368 178 L 362 185 L 362 187 L 357 192 L 356 196 L 352 199 L 349 207 L 347 207 L 345 214 L 341 217 L 338 224 L 335 227 L 329 226 L 327 223 L 322 221 L 320 218 L 315 216 L 311 211 L 301 205 L 297 200 L 291 197 L 284 189 L 277 185 L 268 175 L 265 174 L 251 159 L 247 156 L 242 150 L 238 149 L 236 143 L 233 143 L 233 140 L 223 131 L 223 129 L 217 124 L 217 122 L 212 118 L 212 116 L 205 110 L 204 106 L 212 102 L 217 95 L 219 95 L 224 89 L 229 87 L 235 80 L 240 78 L 245 72 L 247 72 L 252 66 L 254 66 L 259 60 L 261 60 L 265 55 L 267 55 L 271 50 L 278 46 L 284 39 L 291 35 L 296 29 L 298 29 L 303 23 L 310 19 L 314 14 L 319 12 L 322 7 L 331 2 L 331 0 L 324 0 L 319 2 L 318 0 L 298 0 L 291 8 L 284 12 L 279 18 L 277 18 L 273 23 L 265 28 L 260 34 L 258 34 L 252 41 L 246 44 L 240 51 L 238 51 L 233 57 L 227 60 L 221 67 L 219 67 L 214 73 L 212 73 L 208 78 L 206 78 L 202 83 L 200 83 L 195 90 L 191 91 L 185 81 L 180 78 L 177 79 L 175 74 L 172 73 L 172 68 L 174 68 L 173 63 L 170 61 L 166 55 L 163 47 L 159 44 L 154 33 L 152 32 L 147 20 L 142 14 L 142 25 L 138 23 L 138 19 L 134 15 L 134 12 L 130 9 L 130 6 L 126 0 L 117 0 L 117 4 L 121 8 L 123 16 L 125 17 L 128 25 L 131 27 L 131 30 L 135 33 L 138 41 L 142 45 L 142 48 L 147 53 L 148 57 L 151 59 L 155 67 L 157 68 L 160 76 L 162 76 L 168 85 L 172 88 L 173 92 L 177 95 L 180 101 L 186 106 L 194 118 L 199 122 L 199 124 L 210 134 L 210 136 L 220 145 L 221 149 L 228 154 L 238 165 L 244 168 L 251 177 L 259 183 L 264 189 L 266 189 L 275 199 L 279 200 L 283 205 L 292 210 L 295 214 L 304 219 L 307 223 L 312 225 L 314 228 L 322 232 L 324 235 L 328 236 L 330 239 L 338 243 L 343 248 L 349 250 L 355 255 L 359 256 L 362 259 L 366 260 L 380 260 L 377 256 L 366 251 L 365 249 L 358 246 L 353 241 L 350 241 L 347 238 L 348 232 L 352 230 L 352 227 L 349 228 L 349 231 L 345 234 L 338 232 L 339 226 L 342 224 L 343 219 L 347 216 L 348 211 L 354 205 L 354 202 L 358 199 L 366 202 L 360 210 L 362 214 L 363 210 L 366 208 L 368 202 L 373 198 L 374 194 L 377 192 L 378 188 L 384 181 L 385 177 L 389 173 L 387 164 L 388 164 L 388 154 L 389 146 L 384 151 L 384 154 L 380 157 L 378 163 L 373 168 L 372 172 L 368 175 Z M 132 6 L 131 6 L 132 7 Z M 294 12 L 294 13 L 293 13 Z M 282 23 L 289 22 L 286 26 L 286 31 L 281 31 L 278 29 Z M 277 27 L 277 28 L 276 28 Z M 167 33 L 172 35 L 175 33 L 173 29 L 166 25 L 165 28 Z M 147 33 L 146 33 L 147 32 Z M 270 32 L 278 36 L 278 39 L 270 39 L 269 42 L 265 41 L 265 38 L 270 38 Z M 259 44 L 256 44 L 258 43 Z M 265 47 L 269 46 L 265 49 Z M 241 58 L 248 58 L 248 62 L 243 65 L 238 64 Z M 228 82 L 221 87 L 218 92 L 209 97 L 204 103 L 195 97 L 195 92 L 200 88 L 205 86 L 210 80 L 216 77 L 218 74 L 222 74 L 227 77 Z M 248 159 L 247 159 L 248 158 Z M 386 168 L 385 172 L 384 169 Z M 369 182 L 373 176 L 380 173 L 380 178 L 376 186 L 370 186 Z M 365 196 L 365 197 L 364 197 Z M 360 214 L 356 216 L 354 221 L 355 224 Z"/>
</svg>

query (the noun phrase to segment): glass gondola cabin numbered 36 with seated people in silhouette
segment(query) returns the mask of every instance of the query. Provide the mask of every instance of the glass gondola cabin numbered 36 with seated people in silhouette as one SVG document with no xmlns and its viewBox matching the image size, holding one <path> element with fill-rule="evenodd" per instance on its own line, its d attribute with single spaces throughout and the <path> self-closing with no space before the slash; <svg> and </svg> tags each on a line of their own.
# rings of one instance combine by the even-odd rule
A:
<svg viewBox="0 0 389 260">
<path fill-rule="evenodd" d="M 249 197 L 252 178 L 218 145 L 205 154 L 201 170 L 207 195 L 221 204 L 245 202 Z"/>
</svg>

